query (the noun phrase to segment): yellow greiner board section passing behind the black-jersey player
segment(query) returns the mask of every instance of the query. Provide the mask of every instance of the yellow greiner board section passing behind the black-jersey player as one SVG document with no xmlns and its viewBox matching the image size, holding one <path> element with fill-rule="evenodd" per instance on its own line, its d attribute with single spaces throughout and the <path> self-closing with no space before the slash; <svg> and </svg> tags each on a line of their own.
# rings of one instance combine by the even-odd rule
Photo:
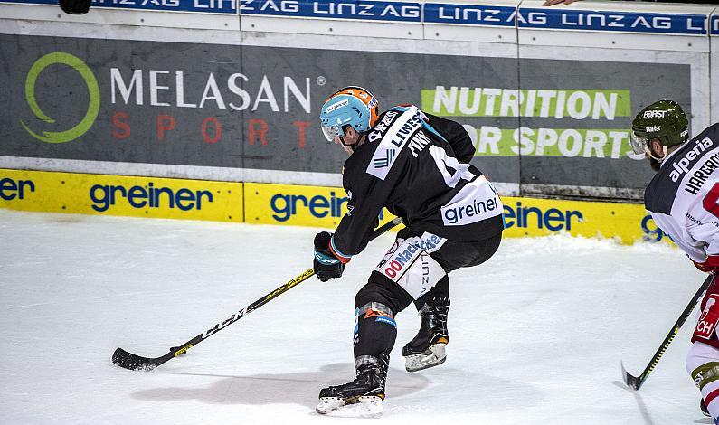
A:
<svg viewBox="0 0 719 425">
<path fill-rule="evenodd" d="M 507 237 L 574 236 L 611 238 L 622 243 L 667 239 L 644 206 L 503 197 Z M 245 220 L 334 228 L 346 213 L 347 196 L 337 187 L 245 184 Z M 393 217 L 383 210 L 383 222 Z"/>
</svg>

